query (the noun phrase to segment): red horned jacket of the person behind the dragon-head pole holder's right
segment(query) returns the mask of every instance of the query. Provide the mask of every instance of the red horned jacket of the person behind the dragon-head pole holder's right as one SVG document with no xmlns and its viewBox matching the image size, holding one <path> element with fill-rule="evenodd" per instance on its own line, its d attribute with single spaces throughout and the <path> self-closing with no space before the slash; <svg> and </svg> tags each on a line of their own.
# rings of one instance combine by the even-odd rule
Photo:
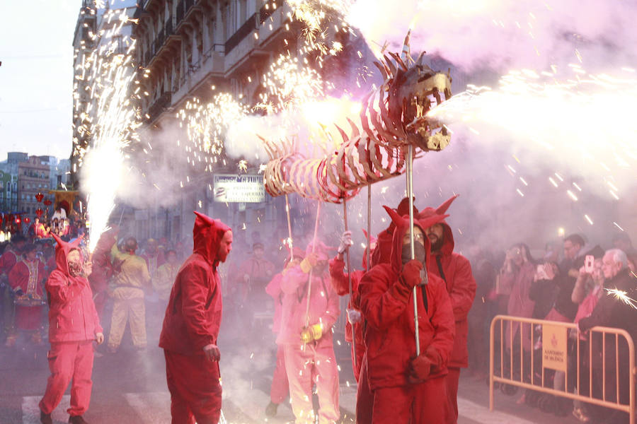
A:
<svg viewBox="0 0 637 424">
<path fill-rule="evenodd" d="M 432 216 L 442 216 L 457 196 L 445 201 L 437 209 L 425 208 L 418 213 L 419 219 Z M 440 222 L 443 227 L 443 245 L 440 252 L 432 254 L 432 261 L 427 262 L 427 270 L 444 280 L 447 292 L 454 308 L 456 320 L 456 338 L 449 367 L 459 368 L 469 366 L 469 352 L 466 348 L 469 323 L 466 320 L 471 305 L 476 297 L 476 280 L 471 273 L 471 264 L 459 253 L 454 252 L 454 233 L 446 221 Z"/>
</svg>

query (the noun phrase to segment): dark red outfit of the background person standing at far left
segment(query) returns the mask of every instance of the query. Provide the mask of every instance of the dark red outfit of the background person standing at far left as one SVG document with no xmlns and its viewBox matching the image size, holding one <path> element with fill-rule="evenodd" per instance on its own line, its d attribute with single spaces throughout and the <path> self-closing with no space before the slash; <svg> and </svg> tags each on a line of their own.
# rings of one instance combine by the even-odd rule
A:
<svg viewBox="0 0 637 424">
<path fill-rule="evenodd" d="M 26 331 L 40 329 L 42 319 L 42 301 L 44 299 L 42 280 L 46 277 L 45 266 L 39 259 L 23 259 L 16 263 L 8 273 L 8 281 L 16 294 L 16 328 Z"/>
</svg>

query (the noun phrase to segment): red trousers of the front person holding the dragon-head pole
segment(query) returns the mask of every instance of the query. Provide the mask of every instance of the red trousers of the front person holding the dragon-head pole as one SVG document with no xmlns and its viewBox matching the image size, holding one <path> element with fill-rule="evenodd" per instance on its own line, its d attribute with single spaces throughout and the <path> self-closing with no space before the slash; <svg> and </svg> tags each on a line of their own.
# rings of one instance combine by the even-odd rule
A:
<svg viewBox="0 0 637 424">
<path fill-rule="evenodd" d="M 374 390 L 374 424 L 440 424 L 447 422 L 446 378 Z"/>
</svg>

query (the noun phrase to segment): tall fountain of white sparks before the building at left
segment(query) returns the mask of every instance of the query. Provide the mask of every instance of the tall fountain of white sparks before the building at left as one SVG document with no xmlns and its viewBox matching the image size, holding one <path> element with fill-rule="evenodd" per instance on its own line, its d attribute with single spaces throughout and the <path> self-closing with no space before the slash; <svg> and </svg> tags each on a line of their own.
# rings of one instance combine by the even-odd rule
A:
<svg viewBox="0 0 637 424">
<path fill-rule="evenodd" d="M 96 47 L 76 52 L 83 60 L 76 67 L 74 83 L 74 114 L 81 121 L 78 134 L 91 141 L 90 147 L 74 143 L 74 156 L 87 192 L 89 252 L 108 229 L 124 177 L 124 150 L 139 140 L 139 117 L 132 103 L 132 96 L 137 94 L 131 90 L 136 76 L 132 55 L 135 43 L 129 37 L 120 37 L 122 26 L 130 20 L 117 9 L 106 12 L 103 20 L 105 29 L 93 35 Z"/>
</svg>

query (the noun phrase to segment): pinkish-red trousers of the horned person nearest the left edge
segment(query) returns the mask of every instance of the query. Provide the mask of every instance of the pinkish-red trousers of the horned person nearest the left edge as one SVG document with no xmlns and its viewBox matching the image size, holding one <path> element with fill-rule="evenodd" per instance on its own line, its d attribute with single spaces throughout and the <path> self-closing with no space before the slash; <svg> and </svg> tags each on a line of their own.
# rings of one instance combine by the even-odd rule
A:
<svg viewBox="0 0 637 424">
<path fill-rule="evenodd" d="M 84 415 L 91 401 L 91 374 L 93 372 L 93 342 L 68 341 L 51 343 L 47 355 L 51 375 L 47 381 L 47 389 L 40 401 L 40 409 L 51 413 L 67 391 L 71 379 L 71 407 L 67 410 L 70 416 Z"/>
</svg>

